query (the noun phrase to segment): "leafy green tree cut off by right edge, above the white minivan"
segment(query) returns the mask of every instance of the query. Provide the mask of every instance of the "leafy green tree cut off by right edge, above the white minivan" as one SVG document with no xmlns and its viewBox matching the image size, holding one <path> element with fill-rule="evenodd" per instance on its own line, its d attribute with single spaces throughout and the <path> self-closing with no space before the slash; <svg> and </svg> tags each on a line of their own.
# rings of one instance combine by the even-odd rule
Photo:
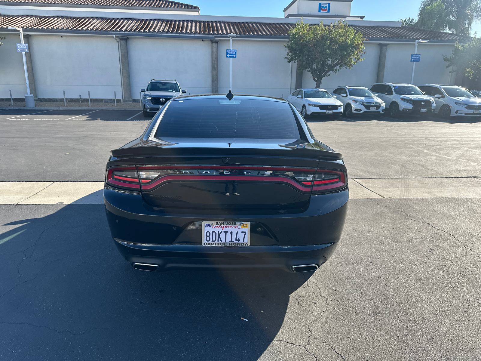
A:
<svg viewBox="0 0 481 361">
<path fill-rule="evenodd" d="M 481 82 L 481 39 L 473 38 L 466 45 L 456 44 L 453 53 L 448 58 L 443 56 L 448 64 L 446 68 L 453 66 L 450 73 L 464 70 L 464 75 L 476 84 Z M 454 70 L 456 69 L 456 70 Z M 462 70 L 461 70 L 462 71 Z"/>
</svg>

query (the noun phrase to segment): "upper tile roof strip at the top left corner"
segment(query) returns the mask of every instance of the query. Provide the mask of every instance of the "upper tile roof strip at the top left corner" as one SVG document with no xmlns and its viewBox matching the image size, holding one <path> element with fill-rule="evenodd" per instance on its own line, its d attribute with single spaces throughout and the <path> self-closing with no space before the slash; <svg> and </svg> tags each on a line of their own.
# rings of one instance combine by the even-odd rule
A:
<svg viewBox="0 0 481 361">
<path fill-rule="evenodd" d="M 1 0 L 0 4 L 57 4 L 92 6 L 132 6 L 145 8 L 199 9 L 198 6 L 169 0 Z"/>
</svg>

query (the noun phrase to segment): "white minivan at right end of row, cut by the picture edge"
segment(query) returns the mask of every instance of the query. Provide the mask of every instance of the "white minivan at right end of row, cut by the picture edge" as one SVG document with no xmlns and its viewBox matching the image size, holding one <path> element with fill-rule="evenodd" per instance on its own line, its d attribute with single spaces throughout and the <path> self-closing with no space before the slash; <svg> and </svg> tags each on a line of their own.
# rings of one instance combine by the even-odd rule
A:
<svg viewBox="0 0 481 361">
<path fill-rule="evenodd" d="M 468 89 L 456 85 L 427 84 L 419 86 L 426 95 L 434 97 L 435 112 L 443 118 L 450 116 L 481 116 L 481 99 Z"/>
</svg>

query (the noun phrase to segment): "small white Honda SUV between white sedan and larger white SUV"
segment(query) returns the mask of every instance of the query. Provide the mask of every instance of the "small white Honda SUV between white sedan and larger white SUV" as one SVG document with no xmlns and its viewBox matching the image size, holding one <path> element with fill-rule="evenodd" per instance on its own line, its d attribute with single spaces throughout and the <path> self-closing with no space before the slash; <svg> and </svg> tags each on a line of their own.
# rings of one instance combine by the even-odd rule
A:
<svg viewBox="0 0 481 361">
<path fill-rule="evenodd" d="M 365 87 L 342 85 L 332 93 L 337 95 L 336 99 L 343 104 L 345 116 L 364 113 L 376 116 L 384 114 L 386 108 L 384 102 Z"/>
</svg>

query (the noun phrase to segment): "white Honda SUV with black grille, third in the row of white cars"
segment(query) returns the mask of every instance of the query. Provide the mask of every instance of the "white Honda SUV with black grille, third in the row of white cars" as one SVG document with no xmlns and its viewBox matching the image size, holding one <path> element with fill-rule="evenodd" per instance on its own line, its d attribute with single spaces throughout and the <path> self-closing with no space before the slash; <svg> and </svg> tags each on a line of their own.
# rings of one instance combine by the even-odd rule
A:
<svg viewBox="0 0 481 361">
<path fill-rule="evenodd" d="M 389 115 L 400 113 L 429 115 L 434 112 L 434 100 L 416 86 L 405 83 L 376 83 L 371 91 L 379 97 L 389 109 Z"/>
</svg>

